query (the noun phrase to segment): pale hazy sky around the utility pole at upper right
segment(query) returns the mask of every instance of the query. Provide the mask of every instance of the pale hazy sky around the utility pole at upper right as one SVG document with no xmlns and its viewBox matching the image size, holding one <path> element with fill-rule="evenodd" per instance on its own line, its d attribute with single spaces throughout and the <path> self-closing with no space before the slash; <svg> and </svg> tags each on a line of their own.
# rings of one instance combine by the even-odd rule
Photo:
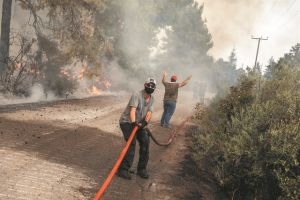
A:
<svg viewBox="0 0 300 200">
<path fill-rule="evenodd" d="M 214 40 L 210 53 L 227 58 L 235 48 L 239 67 L 253 66 L 257 40 L 262 41 L 258 60 L 267 64 L 300 43 L 300 0 L 197 0 L 204 3 L 204 18 Z"/>
</svg>

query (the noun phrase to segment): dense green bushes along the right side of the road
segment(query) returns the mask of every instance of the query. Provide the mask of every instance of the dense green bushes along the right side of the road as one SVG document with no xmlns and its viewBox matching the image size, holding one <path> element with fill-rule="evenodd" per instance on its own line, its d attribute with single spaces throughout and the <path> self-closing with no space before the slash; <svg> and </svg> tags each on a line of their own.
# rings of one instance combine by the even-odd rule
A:
<svg viewBox="0 0 300 200">
<path fill-rule="evenodd" d="M 300 44 L 196 107 L 193 159 L 230 199 L 300 199 Z"/>
</svg>

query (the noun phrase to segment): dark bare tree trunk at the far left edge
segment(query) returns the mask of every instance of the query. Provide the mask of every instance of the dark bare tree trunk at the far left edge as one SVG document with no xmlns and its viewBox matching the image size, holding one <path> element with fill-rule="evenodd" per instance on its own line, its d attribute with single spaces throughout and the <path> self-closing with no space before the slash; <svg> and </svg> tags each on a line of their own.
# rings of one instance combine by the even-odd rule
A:
<svg viewBox="0 0 300 200">
<path fill-rule="evenodd" d="M 3 0 L 0 41 L 0 72 L 5 69 L 7 57 L 9 56 L 11 7 L 12 0 Z"/>
</svg>

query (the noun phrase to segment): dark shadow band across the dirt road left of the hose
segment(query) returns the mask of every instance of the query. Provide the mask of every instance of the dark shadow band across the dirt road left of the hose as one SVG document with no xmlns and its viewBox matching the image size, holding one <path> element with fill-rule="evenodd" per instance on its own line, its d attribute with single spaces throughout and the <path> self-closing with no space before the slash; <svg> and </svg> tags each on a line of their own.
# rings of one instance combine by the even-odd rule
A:
<svg viewBox="0 0 300 200">
<path fill-rule="evenodd" d="M 91 127 L 62 128 L 4 118 L 0 122 L 1 148 L 25 152 L 85 174 L 97 183 L 93 189 L 78 188 L 88 198 L 95 194 L 124 145 L 123 138 Z"/>
</svg>

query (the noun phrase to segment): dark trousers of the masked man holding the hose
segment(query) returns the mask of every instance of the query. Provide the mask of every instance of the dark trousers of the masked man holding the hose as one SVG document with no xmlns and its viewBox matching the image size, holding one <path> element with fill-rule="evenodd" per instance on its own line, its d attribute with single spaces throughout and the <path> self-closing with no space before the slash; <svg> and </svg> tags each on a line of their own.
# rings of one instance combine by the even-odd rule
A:
<svg viewBox="0 0 300 200">
<path fill-rule="evenodd" d="M 134 127 L 130 123 L 122 123 L 120 124 L 120 127 L 123 132 L 124 139 L 127 141 Z M 138 170 L 146 169 L 149 160 L 150 140 L 149 140 L 148 133 L 144 129 L 139 129 L 136 135 L 134 136 L 131 145 L 129 146 L 129 149 L 124 157 L 124 160 L 120 165 L 121 169 L 129 170 L 129 168 L 132 166 L 134 153 L 135 153 L 136 139 L 140 145 L 140 151 L 139 151 L 140 157 L 138 162 Z"/>
</svg>

